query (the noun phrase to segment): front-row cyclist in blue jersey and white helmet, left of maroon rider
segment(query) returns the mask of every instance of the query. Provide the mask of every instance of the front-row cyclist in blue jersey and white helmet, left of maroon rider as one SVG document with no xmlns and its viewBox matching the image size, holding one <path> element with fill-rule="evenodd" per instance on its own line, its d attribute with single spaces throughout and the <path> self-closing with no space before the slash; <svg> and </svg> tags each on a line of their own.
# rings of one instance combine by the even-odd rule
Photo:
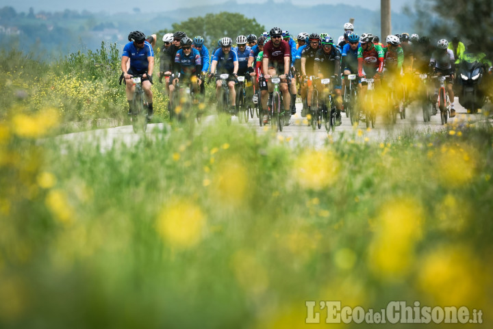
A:
<svg viewBox="0 0 493 329">
<path fill-rule="evenodd" d="M 214 56 L 212 57 L 210 77 L 216 72 L 218 74 L 229 74 L 227 83 L 231 105 L 230 111 L 236 113 L 236 92 L 234 87 L 236 77 L 238 77 L 238 55 L 235 51 L 231 51 L 231 44 L 233 44 L 231 38 L 222 38 L 220 44 L 220 49 L 216 50 L 216 53 L 214 53 Z M 222 81 L 219 78 L 216 78 L 216 99 L 220 99 L 221 83 Z"/>
</svg>

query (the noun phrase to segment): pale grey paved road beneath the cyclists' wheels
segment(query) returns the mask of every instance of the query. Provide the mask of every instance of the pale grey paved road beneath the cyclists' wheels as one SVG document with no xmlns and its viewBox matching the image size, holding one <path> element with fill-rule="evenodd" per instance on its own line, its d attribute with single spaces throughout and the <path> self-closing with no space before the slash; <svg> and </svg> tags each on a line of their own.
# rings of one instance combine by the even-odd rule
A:
<svg viewBox="0 0 493 329">
<path fill-rule="evenodd" d="M 449 123 L 459 121 L 477 121 L 483 118 L 482 114 L 466 114 L 466 109 L 459 105 L 457 97 L 455 98 L 455 109 L 457 116 L 453 119 L 448 119 Z M 217 116 L 208 116 L 204 120 L 204 124 L 207 122 L 214 122 Z M 238 118 L 233 117 L 233 124 L 240 124 Z M 258 118 L 250 118 L 248 122 L 251 129 L 255 129 L 259 133 L 270 133 L 269 127 L 260 127 Z M 147 128 L 147 135 L 150 135 L 153 129 L 164 129 L 164 127 L 170 128 L 166 123 L 149 124 Z M 282 132 L 278 132 L 277 135 L 284 141 L 290 141 L 290 144 L 298 144 L 303 142 L 304 145 L 312 145 L 314 147 L 323 146 L 327 138 L 333 138 L 334 140 L 344 136 L 344 138 L 360 138 L 364 140 L 366 137 L 368 141 L 382 142 L 386 139 L 394 139 L 407 133 L 407 131 L 422 131 L 433 132 L 443 129 L 440 122 L 440 115 L 432 116 L 431 122 L 425 123 L 422 119 L 422 110 L 417 105 L 410 105 L 407 109 L 407 118 L 405 120 L 397 119 L 396 124 L 392 126 L 385 125 L 383 118 L 377 116 L 377 123 L 375 129 L 366 129 L 364 122 L 359 122 L 357 129 L 351 126 L 351 121 L 346 118 L 345 114 L 342 114 L 342 125 L 336 127 L 336 132 L 332 131 L 327 134 L 325 127 L 322 126 L 320 130 L 312 130 L 312 127 L 308 127 L 305 118 L 301 117 L 301 103 L 296 103 L 296 114 L 291 117 L 291 123 L 289 126 L 284 127 Z M 93 131 L 86 131 L 80 133 L 69 133 L 62 135 L 59 138 L 62 140 L 79 140 L 80 138 L 87 138 L 89 140 L 98 141 L 101 149 L 105 150 L 112 148 L 114 142 L 124 142 L 127 145 L 134 144 L 140 139 L 141 135 L 134 133 L 131 126 L 114 127 L 110 129 L 97 129 Z"/>
</svg>

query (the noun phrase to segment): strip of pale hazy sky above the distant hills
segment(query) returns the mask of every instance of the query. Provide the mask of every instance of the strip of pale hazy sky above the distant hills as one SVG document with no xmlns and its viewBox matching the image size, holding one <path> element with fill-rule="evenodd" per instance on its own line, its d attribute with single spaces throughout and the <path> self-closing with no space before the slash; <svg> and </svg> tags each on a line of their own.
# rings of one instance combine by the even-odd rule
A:
<svg viewBox="0 0 493 329">
<path fill-rule="evenodd" d="M 195 5 L 205 5 L 214 3 L 224 3 L 226 0 L 188 0 L 186 5 L 188 7 Z M 236 0 L 238 3 L 262 3 L 266 0 Z M 274 0 L 275 2 L 283 2 Z M 380 8 L 380 0 L 301 0 L 300 2 L 295 0 L 288 0 L 292 3 L 303 3 L 303 5 L 317 5 L 317 4 L 338 4 L 347 3 L 351 5 L 360 5 L 363 8 L 369 8 L 377 10 Z M 403 5 L 406 3 L 412 3 L 409 0 L 390 0 L 392 11 L 400 12 Z M 145 3 L 145 6 L 142 5 Z M 0 8 L 10 5 L 17 12 L 27 12 L 30 7 L 34 8 L 34 12 L 39 10 L 46 10 L 50 12 L 59 12 L 65 9 L 70 10 L 88 10 L 90 12 L 105 11 L 108 13 L 115 12 L 131 12 L 132 8 L 140 8 L 141 12 L 166 12 L 167 10 L 175 10 L 183 7 L 181 1 L 170 0 L 147 0 L 147 1 L 135 1 L 135 0 L 83 0 L 83 1 L 66 1 L 66 0 L 1 0 Z M 225 8 L 227 11 L 227 8 Z"/>
</svg>

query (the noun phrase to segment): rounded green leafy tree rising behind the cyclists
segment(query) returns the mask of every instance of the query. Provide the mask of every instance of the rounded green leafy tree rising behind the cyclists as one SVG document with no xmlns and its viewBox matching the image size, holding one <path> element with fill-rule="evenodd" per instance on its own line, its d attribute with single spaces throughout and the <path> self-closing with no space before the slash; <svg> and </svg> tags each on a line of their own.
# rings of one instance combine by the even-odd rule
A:
<svg viewBox="0 0 493 329">
<path fill-rule="evenodd" d="M 258 36 L 265 31 L 264 25 L 257 23 L 255 18 L 250 19 L 242 14 L 231 12 L 192 17 L 181 23 L 173 23 L 171 27 L 171 30 L 164 29 L 157 33 L 162 36 L 174 31 L 184 31 L 190 38 L 202 36 L 205 43 L 212 47 L 216 46 L 217 41 L 225 36 L 229 36 L 234 42 L 237 36 L 248 36 L 249 34 Z"/>
</svg>

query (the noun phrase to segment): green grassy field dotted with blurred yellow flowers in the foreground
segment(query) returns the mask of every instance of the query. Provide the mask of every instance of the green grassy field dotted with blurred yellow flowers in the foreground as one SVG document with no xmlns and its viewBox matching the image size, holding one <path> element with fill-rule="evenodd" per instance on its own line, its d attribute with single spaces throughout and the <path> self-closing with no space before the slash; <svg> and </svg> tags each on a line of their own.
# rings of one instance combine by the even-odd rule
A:
<svg viewBox="0 0 493 329">
<path fill-rule="evenodd" d="M 2 83 L 0 328 L 343 326 L 305 324 L 310 300 L 488 323 L 489 125 L 317 150 L 210 125 L 102 152 L 54 137 L 68 119 L 34 107 L 41 85 Z"/>
</svg>

